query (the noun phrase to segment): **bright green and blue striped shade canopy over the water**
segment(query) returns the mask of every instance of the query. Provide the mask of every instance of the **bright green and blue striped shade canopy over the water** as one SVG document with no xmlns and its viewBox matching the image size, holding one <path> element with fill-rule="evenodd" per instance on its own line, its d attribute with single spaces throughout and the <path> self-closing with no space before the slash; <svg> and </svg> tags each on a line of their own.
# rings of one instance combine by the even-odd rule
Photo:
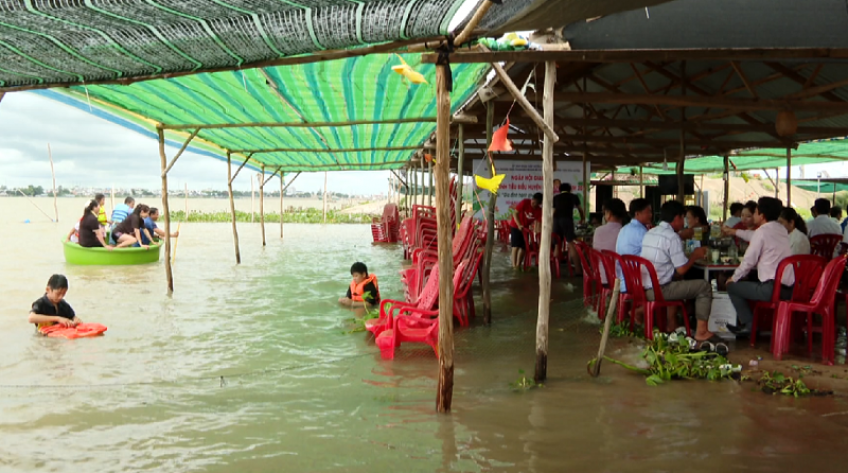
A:
<svg viewBox="0 0 848 473">
<path fill-rule="evenodd" d="M 229 151 L 236 162 L 249 158 L 254 169 L 395 169 L 407 163 L 436 126 L 435 66 L 421 64 L 420 54 L 402 57 L 428 84 L 412 84 L 392 70 L 402 64 L 401 56 L 375 54 L 32 93 L 151 137 L 164 124 L 166 139 L 176 146 L 200 128 L 190 151 L 218 158 Z M 488 70 L 485 64 L 452 66 L 453 110 Z M 244 124 L 262 126 L 227 127 Z M 274 126 L 279 124 L 288 126 Z"/>
</svg>

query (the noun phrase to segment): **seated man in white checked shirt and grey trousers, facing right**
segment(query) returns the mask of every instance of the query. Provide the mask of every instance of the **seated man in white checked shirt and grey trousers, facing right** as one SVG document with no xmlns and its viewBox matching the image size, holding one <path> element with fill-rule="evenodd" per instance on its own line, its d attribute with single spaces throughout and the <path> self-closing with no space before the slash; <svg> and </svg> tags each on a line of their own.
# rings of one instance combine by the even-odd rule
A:
<svg viewBox="0 0 848 473">
<path fill-rule="evenodd" d="M 677 232 L 683 229 L 686 207 L 680 202 L 670 200 L 660 208 L 661 222 L 652 228 L 642 240 L 642 257 L 653 263 L 657 272 L 663 298 L 670 301 L 695 299 L 695 318 L 698 319 L 695 340 L 705 341 L 713 338 L 707 330 L 707 321 L 713 303 L 713 291 L 710 284 L 703 280 L 673 281 L 675 275 L 683 276 L 699 259 L 707 254 L 707 248 L 696 248 L 687 258 L 683 254 L 683 241 Z M 785 230 L 784 230 L 785 233 Z M 642 276 L 645 295 L 654 300 L 654 290 L 647 275 Z M 673 312 L 668 313 L 668 328 L 677 324 Z"/>
</svg>

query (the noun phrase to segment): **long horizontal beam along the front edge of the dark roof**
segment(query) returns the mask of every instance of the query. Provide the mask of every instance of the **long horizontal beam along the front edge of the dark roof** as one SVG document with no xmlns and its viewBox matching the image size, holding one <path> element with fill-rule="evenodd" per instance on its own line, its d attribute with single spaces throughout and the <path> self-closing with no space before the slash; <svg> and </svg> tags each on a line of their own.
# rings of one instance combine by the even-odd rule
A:
<svg viewBox="0 0 848 473">
<path fill-rule="evenodd" d="M 435 64 L 438 54 L 425 53 L 421 62 Z M 451 63 L 498 62 L 643 62 L 643 61 L 764 61 L 848 59 L 848 48 L 732 48 L 732 49 L 585 49 L 571 51 L 457 52 Z"/>
</svg>

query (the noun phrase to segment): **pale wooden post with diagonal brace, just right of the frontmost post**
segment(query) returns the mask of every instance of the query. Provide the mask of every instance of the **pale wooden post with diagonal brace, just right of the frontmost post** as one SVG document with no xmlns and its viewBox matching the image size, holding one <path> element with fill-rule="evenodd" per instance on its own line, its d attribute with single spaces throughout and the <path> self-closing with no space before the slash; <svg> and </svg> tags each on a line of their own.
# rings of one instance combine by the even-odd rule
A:
<svg viewBox="0 0 848 473">
<path fill-rule="evenodd" d="M 554 126 L 554 83 L 556 63 L 545 63 L 543 108 L 545 123 Z M 554 144 L 545 137 L 542 143 L 542 239 L 539 243 L 539 314 L 536 318 L 536 372 L 533 379 L 543 382 L 548 376 L 548 320 L 551 311 L 551 233 L 553 232 Z"/>
</svg>

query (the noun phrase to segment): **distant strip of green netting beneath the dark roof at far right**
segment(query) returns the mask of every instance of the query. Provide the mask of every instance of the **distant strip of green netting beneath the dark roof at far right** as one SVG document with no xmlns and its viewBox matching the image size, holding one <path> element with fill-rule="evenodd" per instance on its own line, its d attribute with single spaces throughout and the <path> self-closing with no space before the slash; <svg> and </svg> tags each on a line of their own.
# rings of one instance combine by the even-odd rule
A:
<svg viewBox="0 0 848 473">
<path fill-rule="evenodd" d="M 763 148 L 738 150 L 729 156 L 730 171 L 772 170 L 786 167 L 786 149 Z M 848 160 L 848 140 L 825 140 L 801 143 L 792 150 L 792 165 L 823 164 Z M 669 161 L 668 170 L 662 163 L 643 166 L 642 170 L 650 174 L 674 174 L 675 162 Z M 629 171 L 633 166 L 623 166 L 620 171 Z M 723 156 L 704 156 L 687 158 L 684 165 L 687 174 L 711 174 L 724 172 Z M 794 183 L 793 183 L 794 184 Z"/>
</svg>

